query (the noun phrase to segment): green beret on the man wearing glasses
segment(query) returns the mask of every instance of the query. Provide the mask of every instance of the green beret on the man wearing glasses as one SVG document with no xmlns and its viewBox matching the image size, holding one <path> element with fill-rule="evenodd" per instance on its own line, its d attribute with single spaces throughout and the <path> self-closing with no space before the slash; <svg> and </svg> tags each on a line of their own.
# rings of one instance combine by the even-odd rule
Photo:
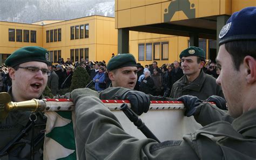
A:
<svg viewBox="0 0 256 160">
<path fill-rule="evenodd" d="M 12 53 L 6 60 L 6 66 L 14 67 L 18 64 L 39 61 L 48 64 L 49 53 L 46 49 L 37 46 L 22 47 Z"/>
</svg>

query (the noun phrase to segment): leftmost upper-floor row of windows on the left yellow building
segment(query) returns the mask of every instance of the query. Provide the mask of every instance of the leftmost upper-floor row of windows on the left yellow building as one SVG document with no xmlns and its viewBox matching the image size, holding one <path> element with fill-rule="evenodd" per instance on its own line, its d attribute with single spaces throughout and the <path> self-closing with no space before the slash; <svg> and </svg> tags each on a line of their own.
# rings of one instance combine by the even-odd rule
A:
<svg viewBox="0 0 256 160">
<path fill-rule="evenodd" d="M 29 42 L 29 35 L 30 42 L 36 43 L 36 31 L 16 29 L 16 42 L 22 42 L 22 40 L 23 42 Z M 9 28 L 9 41 L 15 42 L 15 29 L 13 28 Z"/>
</svg>

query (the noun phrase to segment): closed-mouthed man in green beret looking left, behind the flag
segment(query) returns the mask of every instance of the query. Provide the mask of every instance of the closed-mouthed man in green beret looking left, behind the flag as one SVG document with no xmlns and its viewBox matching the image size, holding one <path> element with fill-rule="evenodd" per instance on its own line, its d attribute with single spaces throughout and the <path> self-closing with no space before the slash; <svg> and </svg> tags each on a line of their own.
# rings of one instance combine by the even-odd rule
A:
<svg viewBox="0 0 256 160">
<path fill-rule="evenodd" d="M 171 98 L 179 98 L 190 94 L 199 99 L 207 99 L 217 95 L 223 97 L 221 86 L 216 84 L 216 79 L 203 71 L 205 64 L 205 52 L 199 47 L 188 47 L 180 55 L 181 68 L 184 76 L 172 86 Z"/>
</svg>

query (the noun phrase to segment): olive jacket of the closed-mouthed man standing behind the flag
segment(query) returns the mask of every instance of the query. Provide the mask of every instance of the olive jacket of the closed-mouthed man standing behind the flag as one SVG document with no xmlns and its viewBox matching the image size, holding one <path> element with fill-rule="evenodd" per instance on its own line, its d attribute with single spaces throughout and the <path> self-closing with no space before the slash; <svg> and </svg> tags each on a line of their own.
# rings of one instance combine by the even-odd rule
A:
<svg viewBox="0 0 256 160">
<path fill-rule="evenodd" d="M 196 96 L 201 100 L 205 100 L 212 95 L 224 98 L 221 86 L 216 84 L 216 79 L 205 74 L 202 70 L 199 76 L 191 83 L 188 83 L 186 75 L 181 77 L 172 86 L 171 98 L 179 98 L 183 95 Z"/>
</svg>

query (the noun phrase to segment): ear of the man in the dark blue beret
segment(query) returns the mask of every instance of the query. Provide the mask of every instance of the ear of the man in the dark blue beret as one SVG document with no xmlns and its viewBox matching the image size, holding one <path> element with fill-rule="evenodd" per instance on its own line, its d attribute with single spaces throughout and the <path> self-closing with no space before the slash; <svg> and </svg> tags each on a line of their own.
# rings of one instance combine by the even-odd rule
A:
<svg viewBox="0 0 256 160">
<path fill-rule="evenodd" d="M 252 56 L 245 56 L 244 65 L 246 67 L 246 81 L 247 83 L 254 83 L 256 81 L 256 61 Z"/>
</svg>

